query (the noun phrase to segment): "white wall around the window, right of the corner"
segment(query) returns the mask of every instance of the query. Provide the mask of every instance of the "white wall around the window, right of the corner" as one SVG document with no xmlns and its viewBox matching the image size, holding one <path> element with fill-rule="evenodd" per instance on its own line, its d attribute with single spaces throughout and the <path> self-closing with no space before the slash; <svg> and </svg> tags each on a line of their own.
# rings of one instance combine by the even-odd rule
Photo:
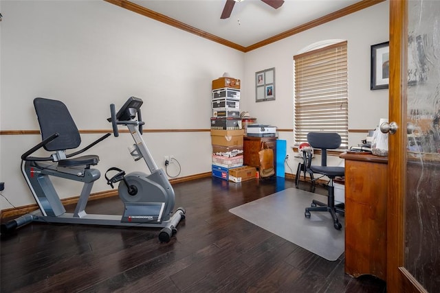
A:
<svg viewBox="0 0 440 293">
<path fill-rule="evenodd" d="M 349 129 L 374 129 L 380 118 L 388 117 L 388 89 L 370 90 L 370 50 L 371 45 L 389 38 L 388 5 L 388 1 L 373 5 L 245 54 L 243 85 L 249 94 L 241 103 L 241 108 L 250 112 L 259 123 L 293 128 L 294 55 L 319 41 L 342 39 L 347 40 L 348 49 Z M 275 67 L 276 71 L 276 100 L 256 103 L 255 72 L 271 67 Z M 357 145 L 365 136 L 349 134 L 349 145 Z M 295 143 L 293 133 L 280 132 L 280 139 L 287 140 L 287 154 L 292 158 L 294 152 L 289 147 Z M 329 163 L 343 163 L 340 159 L 332 159 L 333 162 Z M 289 165 L 296 172 L 297 161 L 289 160 Z"/>
</svg>

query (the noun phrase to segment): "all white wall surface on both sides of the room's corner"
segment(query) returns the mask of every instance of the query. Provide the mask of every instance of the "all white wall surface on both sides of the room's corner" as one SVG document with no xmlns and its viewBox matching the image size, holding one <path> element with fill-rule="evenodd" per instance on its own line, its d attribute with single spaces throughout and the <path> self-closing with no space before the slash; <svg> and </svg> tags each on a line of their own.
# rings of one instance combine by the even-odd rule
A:
<svg viewBox="0 0 440 293">
<path fill-rule="evenodd" d="M 293 56 L 329 38 L 348 40 L 349 128 L 373 128 L 388 115 L 388 91 L 369 90 L 370 45 L 388 40 L 388 2 L 246 54 L 104 1 L 0 3 L 1 130 L 38 130 L 34 97 L 63 100 L 80 129 L 110 130 L 109 104 L 121 106 L 131 95 L 144 99 L 145 128 L 208 129 L 211 81 L 225 71 L 242 81 L 241 110 L 261 123 L 292 128 Z M 255 103 L 254 73 L 270 67 L 276 67 L 276 101 Z M 83 145 L 100 135 L 83 135 Z M 144 133 L 144 139 L 158 165 L 166 155 L 179 160 L 179 176 L 210 172 L 209 132 Z M 288 147 L 294 143 L 290 133 L 281 132 L 280 139 Z M 39 141 L 39 135 L 0 136 L 2 193 L 17 207 L 34 203 L 19 158 Z M 109 167 L 146 169 L 128 154 L 131 143 L 129 134 L 122 134 L 89 151 L 101 160 L 102 178 L 92 192 L 109 189 L 104 180 Z M 296 172 L 296 162 L 289 165 Z M 56 180 L 63 198 L 77 196 L 77 185 Z M 10 208 L 3 198 L 0 202 L 0 209 Z"/>
</svg>

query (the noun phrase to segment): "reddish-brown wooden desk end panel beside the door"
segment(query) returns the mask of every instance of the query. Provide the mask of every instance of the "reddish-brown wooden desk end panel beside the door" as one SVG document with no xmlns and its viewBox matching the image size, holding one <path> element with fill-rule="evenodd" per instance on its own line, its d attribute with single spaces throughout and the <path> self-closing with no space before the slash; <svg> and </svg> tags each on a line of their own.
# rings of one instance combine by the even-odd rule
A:
<svg viewBox="0 0 440 293">
<path fill-rule="evenodd" d="M 345 272 L 386 280 L 388 159 L 341 154 L 345 159 Z"/>
</svg>

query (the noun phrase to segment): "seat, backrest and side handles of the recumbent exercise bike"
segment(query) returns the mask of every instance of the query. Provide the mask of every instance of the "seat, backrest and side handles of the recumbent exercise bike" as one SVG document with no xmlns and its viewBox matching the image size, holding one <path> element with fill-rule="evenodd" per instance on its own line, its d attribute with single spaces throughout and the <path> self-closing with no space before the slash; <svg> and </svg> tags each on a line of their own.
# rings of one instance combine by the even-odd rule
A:
<svg viewBox="0 0 440 293">
<path fill-rule="evenodd" d="M 28 152 L 25 152 L 21 156 L 23 161 L 58 161 L 61 165 L 65 165 L 66 167 L 72 167 L 74 165 L 96 165 L 98 163 L 99 157 L 96 155 L 82 156 L 71 160 L 67 159 L 89 150 L 89 148 L 109 137 L 109 133 L 104 134 L 104 136 L 77 152 L 65 154 L 65 150 L 78 148 L 81 143 L 80 132 L 65 104 L 55 99 L 36 97 L 34 99 L 34 108 L 38 117 L 43 141 L 28 150 Z M 44 148 L 48 152 L 54 151 L 56 153 L 49 157 L 30 156 L 30 154 L 39 150 L 39 148 Z"/>
</svg>

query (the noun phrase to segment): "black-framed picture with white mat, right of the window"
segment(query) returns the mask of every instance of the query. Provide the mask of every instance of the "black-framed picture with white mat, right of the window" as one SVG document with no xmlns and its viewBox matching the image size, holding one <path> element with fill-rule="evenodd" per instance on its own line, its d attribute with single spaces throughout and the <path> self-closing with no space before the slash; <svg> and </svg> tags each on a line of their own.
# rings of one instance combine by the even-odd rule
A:
<svg viewBox="0 0 440 293">
<path fill-rule="evenodd" d="M 388 89 L 390 78 L 389 42 L 371 46 L 371 83 L 370 89 Z"/>
</svg>

